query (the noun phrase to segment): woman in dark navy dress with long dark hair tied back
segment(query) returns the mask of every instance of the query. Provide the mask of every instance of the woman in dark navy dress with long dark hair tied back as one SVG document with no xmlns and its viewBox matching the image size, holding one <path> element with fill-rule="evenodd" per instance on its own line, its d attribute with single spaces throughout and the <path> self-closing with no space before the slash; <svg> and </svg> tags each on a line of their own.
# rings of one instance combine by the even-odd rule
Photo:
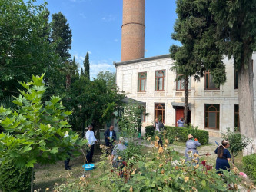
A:
<svg viewBox="0 0 256 192">
<path fill-rule="evenodd" d="M 226 140 L 221 141 L 221 145 L 214 151 L 217 155 L 216 170 L 228 170 L 230 171 L 230 165 L 228 161 L 231 161 L 231 154 L 228 151 L 229 143 Z M 222 171 L 217 171 L 218 174 L 222 174 Z"/>
</svg>

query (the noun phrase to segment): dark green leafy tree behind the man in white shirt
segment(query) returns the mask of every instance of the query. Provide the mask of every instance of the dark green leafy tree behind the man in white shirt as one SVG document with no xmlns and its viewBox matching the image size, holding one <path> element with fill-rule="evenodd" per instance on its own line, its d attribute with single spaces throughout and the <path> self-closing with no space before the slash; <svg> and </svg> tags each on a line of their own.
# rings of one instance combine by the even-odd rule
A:
<svg viewBox="0 0 256 192">
<path fill-rule="evenodd" d="M 104 126 L 105 121 L 113 118 L 115 110 L 122 104 L 124 94 L 118 94 L 118 89 L 109 88 L 105 81 L 90 81 L 80 76 L 71 84 L 68 108 L 74 113 L 71 124 L 76 130 L 84 132 L 85 125 L 93 124 L 95 132 Z M 65 103 L 64 103 L 65 104 Z M 97 131 L 99 137 L 99 131 Z"/>
</svg>

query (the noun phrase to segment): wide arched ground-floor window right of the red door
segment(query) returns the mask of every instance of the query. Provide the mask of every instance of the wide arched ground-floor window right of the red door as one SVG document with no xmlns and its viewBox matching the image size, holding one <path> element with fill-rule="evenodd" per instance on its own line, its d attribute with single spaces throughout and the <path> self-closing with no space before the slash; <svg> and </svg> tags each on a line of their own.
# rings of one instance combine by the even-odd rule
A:
<svg viewBox="0 0 256 192">
<path fill-rule="evenodd" d="M 204 127 L 219 129 L 220 126 L 220 105 L 204 104 Z"/>
</svg>

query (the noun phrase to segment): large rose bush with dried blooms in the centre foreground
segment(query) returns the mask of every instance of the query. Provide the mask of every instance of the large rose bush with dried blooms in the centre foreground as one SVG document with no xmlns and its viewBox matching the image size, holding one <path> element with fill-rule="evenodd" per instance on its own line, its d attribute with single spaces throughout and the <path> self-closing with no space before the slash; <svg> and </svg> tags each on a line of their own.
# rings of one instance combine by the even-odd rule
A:
<svg viewBox="0 0 256 192">
<path fill-rule="evenodd" d="M 224 170 L 224 174 L 219 175 L 216 170 L 205 169 L 199 164 L 191 166 L 192 163 L 185 163 L 167 144 L 165 141 L 166 147 L 158 147 L 158 141 L 155 141 L 151 151 L 138 155 L 136 160 L 131 158 L 121 171 L 102 170 L 105 174 L 101 177 L 101 185 L 114 192 L 238 190 L 241 179 L 232 170 L 230 173 Z"/>
</svg>

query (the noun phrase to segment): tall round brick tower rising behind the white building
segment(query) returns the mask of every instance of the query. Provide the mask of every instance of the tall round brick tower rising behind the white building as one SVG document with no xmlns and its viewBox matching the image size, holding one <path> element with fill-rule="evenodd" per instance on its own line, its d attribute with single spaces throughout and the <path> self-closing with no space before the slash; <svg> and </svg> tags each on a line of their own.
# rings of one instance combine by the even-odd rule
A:
<svg viewBox="0 0 256 192">
<path fill-rule="evenodd" d="M 144 58 L 145 0 L 123 0 L 121 61 Z"/>
</svg>

